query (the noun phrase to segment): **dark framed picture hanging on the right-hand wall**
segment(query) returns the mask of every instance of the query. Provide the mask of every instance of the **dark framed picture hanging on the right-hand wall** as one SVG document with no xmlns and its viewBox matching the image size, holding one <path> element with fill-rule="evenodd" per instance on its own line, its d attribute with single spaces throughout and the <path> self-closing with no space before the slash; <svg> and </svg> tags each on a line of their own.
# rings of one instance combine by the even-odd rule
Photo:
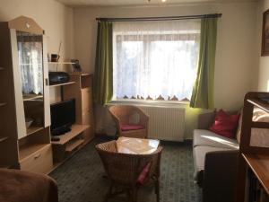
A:
<svg viewBox="0 0 269 202">
<path fill-rule="evenodd" d="M 269 56 L 269 9 L 263 14 L 262 57 Z"/>
</svg>

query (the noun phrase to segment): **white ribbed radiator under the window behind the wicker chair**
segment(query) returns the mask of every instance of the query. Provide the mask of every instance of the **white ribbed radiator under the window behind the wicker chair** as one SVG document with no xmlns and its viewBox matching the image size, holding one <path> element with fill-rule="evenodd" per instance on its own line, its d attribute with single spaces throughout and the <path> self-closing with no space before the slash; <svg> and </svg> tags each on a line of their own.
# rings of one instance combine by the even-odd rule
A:
<svg viewBox="0 0 269 202">
<path fill-rule="evenodd" d="M 149 138 L 183 141 L 185 126 L 184 108 L 144 105 L 138 107 L 150 116 Z"/>
</svg>

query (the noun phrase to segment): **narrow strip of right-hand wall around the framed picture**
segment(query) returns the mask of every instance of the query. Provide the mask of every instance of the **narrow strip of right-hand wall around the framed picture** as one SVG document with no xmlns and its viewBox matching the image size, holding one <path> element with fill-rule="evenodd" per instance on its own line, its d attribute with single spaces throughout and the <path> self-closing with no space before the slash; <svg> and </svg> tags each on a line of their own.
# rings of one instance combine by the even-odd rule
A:
<svg viewBox="0 0 269 202">
<path fill-rule="evenodd" d="M 256 57 L 258 57 L 257 91 L 269 91 L 269 57 L 261 57 L 263 13 L 269 9 L 269 0 L 263 0 L 258 4 L 256 21 Z"/>
</svg>

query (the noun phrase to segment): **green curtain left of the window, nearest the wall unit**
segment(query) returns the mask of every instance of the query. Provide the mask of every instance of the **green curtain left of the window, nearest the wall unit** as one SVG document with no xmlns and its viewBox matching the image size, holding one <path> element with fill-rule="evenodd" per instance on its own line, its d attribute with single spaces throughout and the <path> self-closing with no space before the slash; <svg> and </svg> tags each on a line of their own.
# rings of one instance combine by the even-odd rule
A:
<svg viewBox="0 0 269 202">
<path fill-rule="evenodd" d="M 112 22 L 98 22 L 93 101 L 105 105 L 113 96 Z"/>
</svg>

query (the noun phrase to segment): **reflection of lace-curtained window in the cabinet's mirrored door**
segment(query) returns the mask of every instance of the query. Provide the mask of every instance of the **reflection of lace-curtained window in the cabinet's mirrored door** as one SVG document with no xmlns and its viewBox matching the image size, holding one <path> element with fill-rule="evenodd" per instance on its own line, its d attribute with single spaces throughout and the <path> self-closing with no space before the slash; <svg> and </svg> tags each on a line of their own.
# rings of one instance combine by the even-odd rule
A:
<svg viewBox="0 0 269 202">
<path fill-rule="evenodd" d="M 43 94 L 42 36 L 17 31 L 22 92 Z"/>
</svg>

